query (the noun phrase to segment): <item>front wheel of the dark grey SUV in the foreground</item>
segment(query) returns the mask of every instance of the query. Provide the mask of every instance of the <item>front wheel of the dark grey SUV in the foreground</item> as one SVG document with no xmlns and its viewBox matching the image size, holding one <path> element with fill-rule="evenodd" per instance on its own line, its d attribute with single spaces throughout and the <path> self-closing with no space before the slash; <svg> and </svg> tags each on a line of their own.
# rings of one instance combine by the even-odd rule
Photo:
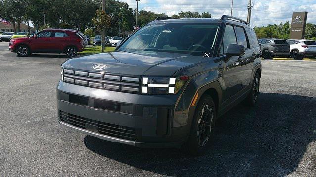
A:
<svg viewBox="0 0 316 177">
<path fill-rule="evenodd" d="M 216 109 L 214 101 L 211 96 L 204 95 L 195 109 L 190 136 L 185 144 L 186 150 L 190 154 L 198 155 L 207 150 L 215 120 Z"/>
</svg>

